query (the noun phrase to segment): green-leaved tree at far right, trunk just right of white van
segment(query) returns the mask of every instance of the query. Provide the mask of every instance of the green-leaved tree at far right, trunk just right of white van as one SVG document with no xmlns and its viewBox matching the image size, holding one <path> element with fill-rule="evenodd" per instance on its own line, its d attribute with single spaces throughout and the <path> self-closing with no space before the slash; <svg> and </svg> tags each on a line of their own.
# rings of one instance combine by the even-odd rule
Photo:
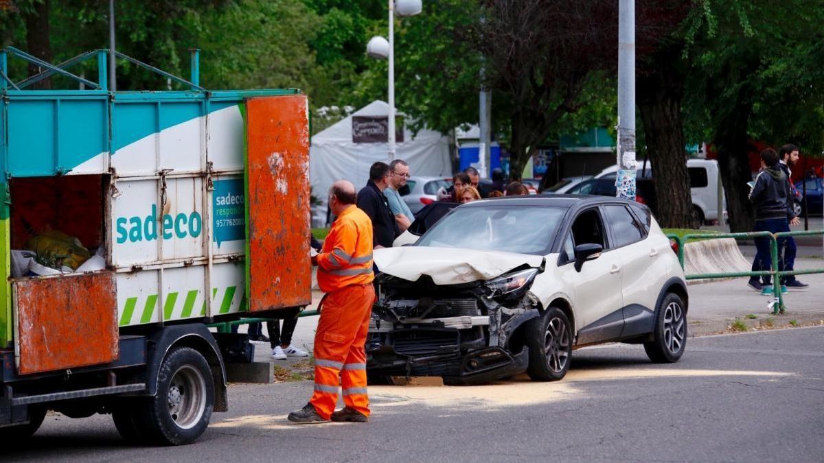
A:
<svg viewBox="0 0 824 463">
<path fill-rule="evenodd" d="M 751 229 L 751 139 L 822 148 L 824 12 L 812 0 L 704 0 L 686 38 L 695 63 L 689 117 L 705 120 L 719 154 L 730 228 Z"/>
</svg>

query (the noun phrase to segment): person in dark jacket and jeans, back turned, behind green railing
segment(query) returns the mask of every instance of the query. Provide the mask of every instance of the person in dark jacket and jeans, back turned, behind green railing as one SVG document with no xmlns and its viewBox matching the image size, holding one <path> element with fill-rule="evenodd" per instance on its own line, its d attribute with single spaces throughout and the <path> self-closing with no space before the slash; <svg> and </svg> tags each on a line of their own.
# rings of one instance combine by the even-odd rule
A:
<svg viewBox="0 0 824 463">
<path fill-rule="evenodd" d="M 755 184 L 750 191 L 750 201 L 756 207 L 755 232 L 789 232 L 789 223 L 798 225 L 798 217 L 794 217 L 790 205 L 792 193 L 789 189 L 787 175 L 778 166 L 778 153 L 772 148 L 761 152 L 761 171 L 756 176 Z M 779 252 L 784 248 L 786 239 L 779 238 Z M 770 259 L 770 238 L 756 238 L 756 259 L 752 262 L 752 271 L 769 271 L 772 268 Z M 783 270 L 781 255 L 779 255 L 779 271 Z M 770 276 L 765 275 L 763 283 L 758 277 L 750 277 L 747 285 L 756 291 L 761 291 L 770 285 Z"/>
</svg>

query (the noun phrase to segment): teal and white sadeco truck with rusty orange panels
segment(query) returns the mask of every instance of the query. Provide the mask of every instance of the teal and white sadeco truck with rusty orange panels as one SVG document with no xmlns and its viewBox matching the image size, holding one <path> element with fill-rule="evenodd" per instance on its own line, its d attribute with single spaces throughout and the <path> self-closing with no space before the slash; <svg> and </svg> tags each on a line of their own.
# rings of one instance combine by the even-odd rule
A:
<svg viewBox="0 0 824 463">
<path fill-rule="evenodd" d="M 12 57 L 44 71 L 13 82 Z M 208 324 L 311 302 L 307 98 L 206 91 L 197 58 L 190 81 L 150 68 L 190 90 L 110 91 L 105 50 L 0 51 L 4 442 L 48 410 L 193 442 L 227 410 L 226 363 L 250 361 Z M 70 72 L 95 59 L 96 82 Z M 28 89 L 50 75 L 86 89 Z"/>
</svg>

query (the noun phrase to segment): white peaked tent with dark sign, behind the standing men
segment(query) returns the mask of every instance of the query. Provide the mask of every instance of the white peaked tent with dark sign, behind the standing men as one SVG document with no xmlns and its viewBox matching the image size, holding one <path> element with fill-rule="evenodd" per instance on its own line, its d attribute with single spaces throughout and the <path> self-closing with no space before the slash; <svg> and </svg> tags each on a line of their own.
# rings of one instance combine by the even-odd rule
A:
<svg viewBox="0 0 824 463">
<path fill-rule="evenodd" d="M 317 133 L 309 148 L 309 181 L 323 205 L 312 213 L 312 225 L 321 226 L 326 219 L 326 192 L 335 180 L 349 180 L 360 189 L 369 178 L 369 166 L 376 161 L 388 162 L 387 143 L 353 143 L 352 116 L 384 116 L 389 105 L 372 101 L 346 119 Z M 421 129 L 413 138 L 404 128 L 404 142 L 396 143 L 396 158 L 410 165 L 412 175 L 452 176 L 449 141 L 442 133 Z"/>
</svg>

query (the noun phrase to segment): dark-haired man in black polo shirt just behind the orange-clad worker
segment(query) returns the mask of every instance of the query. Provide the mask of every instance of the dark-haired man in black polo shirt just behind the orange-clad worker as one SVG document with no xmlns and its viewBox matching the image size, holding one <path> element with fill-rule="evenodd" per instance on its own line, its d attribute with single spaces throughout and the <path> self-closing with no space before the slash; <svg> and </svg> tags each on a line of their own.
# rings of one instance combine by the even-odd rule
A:
<svg viewBox="0 0 824 463">
<path fill-rule="evenodd" d="M 358 191 L 358 208 L 372 219 L 372 246 L 375 249 L 392 247 L 392 241 L 400 235 L 395 214 L 383 190 L 389 186 L 389 166 L 376 162 L 369 168 L 369 181 Z"/>
</svg>

